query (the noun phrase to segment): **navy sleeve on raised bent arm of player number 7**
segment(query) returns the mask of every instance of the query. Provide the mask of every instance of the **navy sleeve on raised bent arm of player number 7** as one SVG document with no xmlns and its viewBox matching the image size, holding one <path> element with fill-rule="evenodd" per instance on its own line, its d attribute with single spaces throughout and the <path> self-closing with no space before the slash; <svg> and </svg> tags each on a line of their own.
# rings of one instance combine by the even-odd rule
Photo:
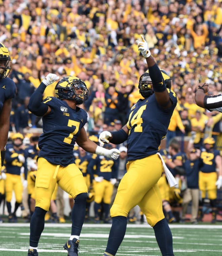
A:
<svg viewBox="0 0 222 256">
<path fill-rule="evenodd" d="M 30 97 L 28 109 L 36 116 L 43 116 L 48 110 L 48 105 L 42 102 L 42 96 L 45 88 L 46 85 L 44 83 L 40 83 L 39 87 Z"/>
</svg>

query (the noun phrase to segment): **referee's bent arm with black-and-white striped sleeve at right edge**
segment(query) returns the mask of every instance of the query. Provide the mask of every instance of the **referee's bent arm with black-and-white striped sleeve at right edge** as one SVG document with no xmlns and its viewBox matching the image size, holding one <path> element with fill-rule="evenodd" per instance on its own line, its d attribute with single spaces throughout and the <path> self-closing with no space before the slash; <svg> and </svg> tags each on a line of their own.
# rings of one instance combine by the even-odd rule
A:
<svg viewBox="0 0 222 256">
<path fill-rule="evenodd" d="M 209 90 L 209 84 L 199 85 L 195 92 L 195 102 L 198 106 L 210 111 L 216 110 L 222 112 L 222 94 L 215 96 L 206 95 Z"/>
</svg>

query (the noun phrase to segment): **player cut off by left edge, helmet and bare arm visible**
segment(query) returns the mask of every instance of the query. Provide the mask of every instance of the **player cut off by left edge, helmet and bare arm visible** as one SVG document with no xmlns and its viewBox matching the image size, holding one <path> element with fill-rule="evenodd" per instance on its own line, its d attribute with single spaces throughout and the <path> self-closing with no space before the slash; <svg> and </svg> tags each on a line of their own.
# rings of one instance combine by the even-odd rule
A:
<svg viewBox="0 0 222 256">
<path fill-rule="evenodd" d="M 8 140 L 9 119 L 11 112 L 11 99 L 14 98 L 16 86 L 12 79 L 8 78 L 10 72 L 11 57 L 8 48 L 0 43 L 0 169 L 5 158 L 5 145 Z"/>
</svg>

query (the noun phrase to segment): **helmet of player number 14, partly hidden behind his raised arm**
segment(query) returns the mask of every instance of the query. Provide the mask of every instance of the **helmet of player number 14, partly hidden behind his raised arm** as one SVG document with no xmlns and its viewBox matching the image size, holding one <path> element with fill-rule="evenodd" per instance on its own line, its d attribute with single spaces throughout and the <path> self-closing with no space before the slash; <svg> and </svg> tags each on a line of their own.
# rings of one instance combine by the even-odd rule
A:
<svg viewBox="0 0 222 256">
<path fill-rule="evenodd" d="M 163 80 L 166 84 L 166 87 L 170 89 L 172 78 L 170 78 L 170 76 L 168 75 L 168 73 L 165 70 L 160 69 L 160 71 L 161 71 Z M 139 93 L 144 98 L 147 98 L 154 93 L 154 90 L 151 85 L 152 85 L 152 80 L 150 78 L 149 70 L 147 70 L 145 73 L 143 73 L 141 75 L 140 80 L 139 80 L 139 86 L 138 86 Z"/>
</svg>

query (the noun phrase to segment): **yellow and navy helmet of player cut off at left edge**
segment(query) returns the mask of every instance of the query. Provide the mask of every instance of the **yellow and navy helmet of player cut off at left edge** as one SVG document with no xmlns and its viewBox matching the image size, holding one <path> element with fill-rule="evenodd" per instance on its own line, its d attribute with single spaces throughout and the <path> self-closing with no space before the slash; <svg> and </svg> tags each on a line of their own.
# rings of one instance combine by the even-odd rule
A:
<svg viewBox="0 0 222 256">
<path fill-rule="evenodd" d="M 10 61 L 11 57 L 8 48 L 3 43 L 0 43 L 0 78 L 8 76 L 11 70 L 9 66 Z"/>
</svg>

